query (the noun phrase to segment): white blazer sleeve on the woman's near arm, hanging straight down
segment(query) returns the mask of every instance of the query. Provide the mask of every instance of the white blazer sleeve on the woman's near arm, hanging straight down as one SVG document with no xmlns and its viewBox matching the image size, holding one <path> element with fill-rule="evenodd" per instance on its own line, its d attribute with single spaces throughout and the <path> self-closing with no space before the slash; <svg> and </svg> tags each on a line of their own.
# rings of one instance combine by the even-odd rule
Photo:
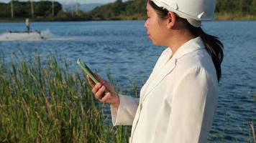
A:
<svg viewBox="0 0 256 143">
<path fill-rule="evenodd" d="M 175 87 L 165 142 L 207 142 L 218 99 L 218 82 L 202 68 L 190 70 Z"/>
</svg>

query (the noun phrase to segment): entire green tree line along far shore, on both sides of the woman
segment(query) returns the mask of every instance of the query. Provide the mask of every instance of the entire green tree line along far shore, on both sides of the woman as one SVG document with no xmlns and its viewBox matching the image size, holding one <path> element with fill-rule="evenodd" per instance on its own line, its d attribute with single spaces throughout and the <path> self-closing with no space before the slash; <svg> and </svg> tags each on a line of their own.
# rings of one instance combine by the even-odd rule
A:
<svg viewBox="0 0 256 143">
<path fill-rule="evenodd" d="M 77 11 L 76 14 L 63 11 L 57 1 L 10 1 L 0 3 L 0 18 L 34 17 L 52 20 L 111 20 L 146 19 L 147 0 L 116 0 L 111 4 L 96 7 L 92 11 Z M 13 9 L 13 10 L 11 10 Z M 256 16 L 256 0 L 216 0 L 216 15 L 225 15 L 224 19 L 236 19 Z"/>
</svg>

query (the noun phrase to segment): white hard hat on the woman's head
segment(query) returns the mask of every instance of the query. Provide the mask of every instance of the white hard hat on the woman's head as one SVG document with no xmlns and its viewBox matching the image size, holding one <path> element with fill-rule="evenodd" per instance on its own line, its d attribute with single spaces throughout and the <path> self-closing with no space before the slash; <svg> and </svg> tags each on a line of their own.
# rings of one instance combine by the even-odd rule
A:
<svg viewBox="0 0 256 143">
<path fill-rule="evenodd" d="M 178 16 L 187 19 L 196 27 L 201 26 L 201 21 L 210 21 L 215 17 L 215 0 L 151 0 L 157 6 L 168 11 L 173 11 Z"/>
</svg>

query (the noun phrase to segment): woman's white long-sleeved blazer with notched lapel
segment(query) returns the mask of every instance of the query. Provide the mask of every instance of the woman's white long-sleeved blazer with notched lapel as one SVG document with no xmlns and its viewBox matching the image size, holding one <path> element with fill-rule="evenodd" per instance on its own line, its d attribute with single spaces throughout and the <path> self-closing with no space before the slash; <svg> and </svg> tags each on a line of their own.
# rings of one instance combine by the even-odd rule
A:
<svg viewBox="0 0 256 143">
<path fill-rule="evenodd" d="M 140 99 L 120 95 L 114 125 L 132 125 L 132 143 L 207 142 L 218 100 L 218 80 L 200 37 L 165 49 Z"/>
</svg>

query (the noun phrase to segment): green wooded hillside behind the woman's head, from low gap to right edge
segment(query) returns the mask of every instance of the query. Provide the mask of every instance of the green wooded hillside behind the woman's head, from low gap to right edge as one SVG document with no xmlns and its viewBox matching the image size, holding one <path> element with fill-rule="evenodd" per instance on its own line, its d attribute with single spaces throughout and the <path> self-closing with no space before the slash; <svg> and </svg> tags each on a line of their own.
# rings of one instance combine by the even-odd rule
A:
<svg viewBox="0 0 256 143">
<path fill-rule="evenodd" d="M 147 0 L 125 1 L 97 7 L 89 13 L 92 19 L 146 19 Z M 256 19 L 256 0 L 216 0 L 216 19 Z"/>
</svg>

